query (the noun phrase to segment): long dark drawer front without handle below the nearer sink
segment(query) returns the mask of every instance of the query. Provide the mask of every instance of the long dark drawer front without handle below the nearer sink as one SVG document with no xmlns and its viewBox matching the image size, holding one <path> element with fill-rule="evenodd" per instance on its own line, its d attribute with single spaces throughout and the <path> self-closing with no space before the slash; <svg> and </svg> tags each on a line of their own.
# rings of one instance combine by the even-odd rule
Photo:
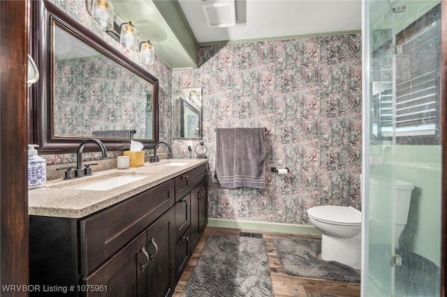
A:
<svg viewBox="0 0 447 297">
<path fill-rule="evenodd" d="M 88 275 L 174 204 L 167 181 L 80 221 L 81 273 Z"/>
</svg>

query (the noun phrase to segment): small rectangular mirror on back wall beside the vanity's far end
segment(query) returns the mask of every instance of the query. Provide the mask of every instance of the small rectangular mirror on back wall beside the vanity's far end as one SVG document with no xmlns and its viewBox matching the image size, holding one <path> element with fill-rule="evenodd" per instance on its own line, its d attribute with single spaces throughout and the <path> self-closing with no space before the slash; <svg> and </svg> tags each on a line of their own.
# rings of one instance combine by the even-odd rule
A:
<svg viewBox="0 0 447 297">
<path fill-rule="evenodd" d="M 173 137 L 202 137 L 202 89 L 173 91 Z"/>
</svg>

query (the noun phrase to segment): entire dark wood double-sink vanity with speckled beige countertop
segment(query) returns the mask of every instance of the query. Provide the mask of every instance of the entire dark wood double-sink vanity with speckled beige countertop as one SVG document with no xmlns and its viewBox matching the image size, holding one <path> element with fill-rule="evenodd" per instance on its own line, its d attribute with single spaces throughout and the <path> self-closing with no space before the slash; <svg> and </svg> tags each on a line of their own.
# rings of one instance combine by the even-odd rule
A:
<svg viewBox="0 0 447 297">
<path fill-rule="evenodd" d="M 171 296 L 207 224 L 208 176 L 207 160 L 163 160 L 29 191 L 36 295 Z"/>
</svg>

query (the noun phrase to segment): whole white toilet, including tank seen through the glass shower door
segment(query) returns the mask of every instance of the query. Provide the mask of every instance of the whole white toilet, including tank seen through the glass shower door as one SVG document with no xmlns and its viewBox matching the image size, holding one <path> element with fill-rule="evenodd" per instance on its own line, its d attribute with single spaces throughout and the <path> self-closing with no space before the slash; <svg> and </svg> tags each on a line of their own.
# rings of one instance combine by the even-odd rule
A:
<svg viewBox="0 0 447 297">
<path fill-rule="evenodd" d="M 408 220 L 413 184 L 395 180 L 395 244 L 399 243 L 400 234 L 404 230 Z M 369 195 L 383 195 L 390 192 L 391 183 L 383 183 L 370 179 Z M 390 197 L 393 195 L 390 194 Z M 381 207 L 380 204 L 375 206 Z M 380 209 L 369 209 L 369 216 L 383 213 Z M 352 206 L 315 206 L 307 210 L 310 222 L 320 229 L 321 235 L 321 257 L 326 261 L 337 261 L 360 269 L 361 245 L 362 245 L 362 215 L 360 211 Z"/>
</svg>

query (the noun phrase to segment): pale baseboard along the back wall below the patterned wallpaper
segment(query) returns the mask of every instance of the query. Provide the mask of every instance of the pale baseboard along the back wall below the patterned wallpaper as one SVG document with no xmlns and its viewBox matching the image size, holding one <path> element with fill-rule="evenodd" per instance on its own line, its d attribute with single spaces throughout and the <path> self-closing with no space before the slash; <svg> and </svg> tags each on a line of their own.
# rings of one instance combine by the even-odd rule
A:
<svg viewBox="0 0 447 297">
<path fill-rule="evenodd" d="M 251 222 L 240 220 L 222 220 L 208 218 L 209 227 L 261 230 L 281 233 L 315 234 L 321 235 L 321 231 L 314 226 L 305 224 L 283 224 L 274 222 Z"/>
</svg>

